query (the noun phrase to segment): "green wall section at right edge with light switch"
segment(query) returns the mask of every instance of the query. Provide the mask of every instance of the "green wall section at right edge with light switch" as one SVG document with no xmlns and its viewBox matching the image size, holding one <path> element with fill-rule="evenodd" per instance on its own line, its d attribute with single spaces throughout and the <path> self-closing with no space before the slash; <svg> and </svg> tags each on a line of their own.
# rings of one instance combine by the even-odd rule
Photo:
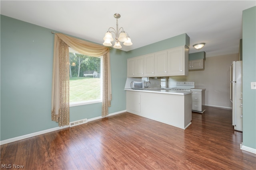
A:
<svg viewBox="0 0 256 170">
<path fill-rule="evenodd" d="M 243 145 L 256 149 L 256 6 L 243 11 Z"/>
</svg>

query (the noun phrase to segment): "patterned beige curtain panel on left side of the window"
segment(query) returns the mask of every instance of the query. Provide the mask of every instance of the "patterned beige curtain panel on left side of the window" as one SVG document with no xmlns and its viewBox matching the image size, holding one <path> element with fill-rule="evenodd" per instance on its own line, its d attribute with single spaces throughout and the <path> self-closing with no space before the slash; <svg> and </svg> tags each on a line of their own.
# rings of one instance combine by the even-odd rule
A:
<svg viewBox="0 0 256 170">
<path fill-rule="evenodd" d="M 68 45 L 54 35 L 52 69 L 52 120 L 69 125 L 69 51 Z"/>
</svg>

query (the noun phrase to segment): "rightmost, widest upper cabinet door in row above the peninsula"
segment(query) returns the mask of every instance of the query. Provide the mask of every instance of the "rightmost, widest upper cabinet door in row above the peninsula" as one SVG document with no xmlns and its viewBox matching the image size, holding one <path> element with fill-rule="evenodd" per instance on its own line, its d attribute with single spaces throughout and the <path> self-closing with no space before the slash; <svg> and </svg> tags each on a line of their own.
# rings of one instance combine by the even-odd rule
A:
<svg viewBox="0 0 256 170">
<path fill-rule="evenodd" d="M 184 75 L 184 47 L 168 50 L 168 75 Z"/>
</svg>

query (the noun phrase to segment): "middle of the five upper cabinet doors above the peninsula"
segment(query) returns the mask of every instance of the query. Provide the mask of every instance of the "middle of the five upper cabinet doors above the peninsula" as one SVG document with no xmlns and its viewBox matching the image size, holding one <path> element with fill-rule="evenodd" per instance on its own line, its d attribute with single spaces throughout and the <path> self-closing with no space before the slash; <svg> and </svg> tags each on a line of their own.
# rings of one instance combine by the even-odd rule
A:
<svg viewBox="0 0 256 170">
<path fill-rule="evenodd" d="M 144 56 L 144 76 L 154 76 L 154 54 Z"/>
</svg>

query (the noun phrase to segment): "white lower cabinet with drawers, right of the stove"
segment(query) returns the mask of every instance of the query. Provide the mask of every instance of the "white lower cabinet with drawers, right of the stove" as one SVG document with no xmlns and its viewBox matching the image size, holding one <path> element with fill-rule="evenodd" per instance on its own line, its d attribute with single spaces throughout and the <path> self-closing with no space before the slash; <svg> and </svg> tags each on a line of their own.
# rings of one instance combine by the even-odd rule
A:
<svg viewBox="0 0 256 170">
<path fill-rule="evenodd" d="M 191 89 L 192 111 L 203 113 L 205 111 L 205 89 Z"/>
</svg>

